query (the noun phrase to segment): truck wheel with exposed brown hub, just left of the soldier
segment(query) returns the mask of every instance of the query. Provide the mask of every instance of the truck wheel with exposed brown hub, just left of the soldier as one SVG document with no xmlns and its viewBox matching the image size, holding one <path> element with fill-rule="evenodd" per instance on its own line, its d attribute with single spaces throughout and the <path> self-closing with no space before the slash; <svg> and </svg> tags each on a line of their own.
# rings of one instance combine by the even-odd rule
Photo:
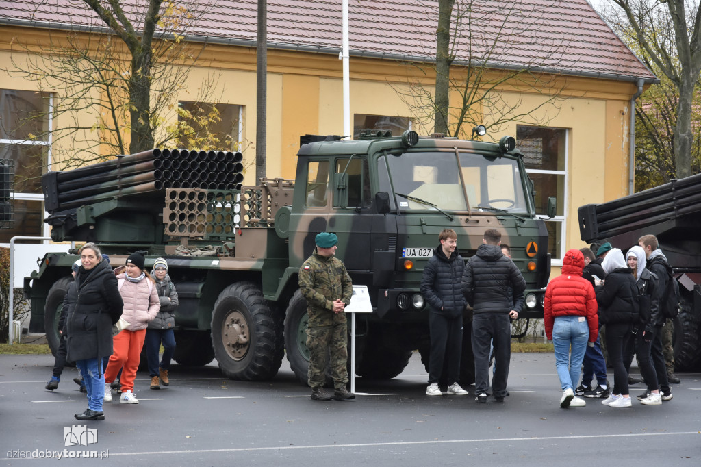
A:
<svg viewBox="0 0 701 467">
<path fill-rule="evenodd" d="M 212 311 L 212 347 L 226 377 L 263 381 L 283 363 L 283 320 L 259 285 L 239 282 L 219 294 Z"/>
</svg>

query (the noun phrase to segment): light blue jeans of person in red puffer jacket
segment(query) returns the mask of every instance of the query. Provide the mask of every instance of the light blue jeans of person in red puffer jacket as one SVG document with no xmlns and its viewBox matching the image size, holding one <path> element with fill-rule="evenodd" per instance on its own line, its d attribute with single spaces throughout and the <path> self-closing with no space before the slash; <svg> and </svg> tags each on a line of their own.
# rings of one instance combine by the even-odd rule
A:
<svg viewBox="0 0 701 467">
<path fill-rule="evenodd" d="M 562 391 L 573 389 L 573 384 L 579 381 L 580 367 L 588 340 L 589 324 L 586 318 L 555 316 L 552 325 L 552 344 L 555 348 L 555 367 Z"/>
</svg>

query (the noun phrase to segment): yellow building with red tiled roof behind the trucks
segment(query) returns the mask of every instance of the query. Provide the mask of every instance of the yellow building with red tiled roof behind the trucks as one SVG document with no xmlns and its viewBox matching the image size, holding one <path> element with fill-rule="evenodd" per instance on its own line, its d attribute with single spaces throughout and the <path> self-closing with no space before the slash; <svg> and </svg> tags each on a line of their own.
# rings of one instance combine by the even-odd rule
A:
<svg viewBox="0 0 701 467">
<path fill-rule="evenodd" d="M 205 8 L 204 2 L 182 2 Z M 268 5 L 267 56 L 267 167 L 268 177 L 294 177 L 294 154 L 305 134 L 341 135 L 343 130 L 341 2 L 302 1 Z M 433 131 L 426 119 L 429 101 L 418 93 L 435 83 L 437 7 L 431 2 L 401 0 L 353 1 L 349 8 L 350 114 L 353 131 L 362 128 Z M 579 238 L 577 208 L 628 193 L 630 137 L 634 98 L 655 76 L 611 32 L 586 0 L 541 6 L 538 1 L 515 2 L 505 12 L 484 2 L 484 11 L 453 22 L 454 61 L 451 79 L 492 86 L 487 100 L 470 107 L 472 121 L 482 121 L 489 139 L 517 137 L 526 154 L 529 175 L 536 184 L 536 204 L 545 214 L 548 196 L 557 196 L 557 217 L 548 226 L 553 241 L 553 265 L 567 248 L 584 246 Z M 14 64 L 27 61 L 27 48 L 46 57 L 47 44 L 79 31 L 103 34 L 104 22 L 75 2 L 53 5 L 27 1 L 0 7 L 0 158 L 14 158 L 15 171 L 27 178 L 15 181 L 15 226 L 0 230 L 0 243 L 11 236 L 41 235 L 43 207 L 36 177 L 50 164 L 60 169 L 64 149 L 50 137 L 32 140 L 29 132 L 13 133 L 18 112 L 58 102 L 59 88 L 40 88 L 19 76 Z M 140 18 L 131 12 L 132 19 Z M 479 14 L 478 14 L 479 13 Z M 210 96 L 222 111 L 221 130 L 240 147 L 247 163 L 245 183 L 253 184 L 256 135 L 256 2 L 229 1 L 196 11 L 186 39 L 197 50 L 184 88 L 164 111 L 166 122 L 176 121 L 175 106 L 198 100 L 203 80 L 215 79 Z M 472 35 L 467 34 L 467 24 Z M 455 27 L 460 24 L 462 27 Z M 457 29 L 457 31 L 455 30 Z M 472 45 L 470 47 L 470 44 Z M 47 57 L 50 58 L 50 57 Z M 485 62 L 486 69 L 466 65 Z M 484 72 L 482 77 L 476 73 Z M 509 76 L 503 83 L 500 77 Z M 480 81 L 481 80 L 481 81 Z M 477 86 L 479 87 L 479 86 Z M 37 91 L 43 90 L 43 100 Z M 409 96 L 409 97 L 407 97 Z M 451 90 L 450 124 L 457 122 L 459 88 Z M 491 107 L 491 108 L 490 108 Z M 494 125 L 494 108 L 511 109 L 512 119 Z M 80 119 L 90 122 L 91 109 Z M 96 111 L 92 109 L 92 111 Z M 430 112 L 429 112 L 430 114 Z M 45 128 L 70 122 L 63 115 L 45 121 Z M 64 119 L 63 121 L 61 119 Z M 429 124 L 431 123 L 431 124 Z M 226 127 L 226 128 L 224 128 Z M 470 137 L 472 125 L 461 135 Z M 22 133 L 22 132 L 20 132 Z M 396 133 L 395 133 L 396 134 Z M 81 135 L 94 140 L 99 129 Z M 77 138 L 75 139 L 77 142 Z M 88 144 L 87 142 L 85 144 Z M 80 147 L 80 142 L 78 142 Z M 28 155 L 42 154 L 43 168 L 22 168 Z M 39 172 L 37 172 L 39 170 Z"/>
</svg>

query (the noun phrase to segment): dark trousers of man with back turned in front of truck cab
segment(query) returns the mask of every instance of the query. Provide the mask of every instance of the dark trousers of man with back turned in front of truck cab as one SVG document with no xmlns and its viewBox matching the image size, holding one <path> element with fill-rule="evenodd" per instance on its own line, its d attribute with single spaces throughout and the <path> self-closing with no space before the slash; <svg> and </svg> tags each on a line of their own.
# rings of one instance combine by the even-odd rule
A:
<svg viewBox="0 0 701 467">
<path fill-rule="evenodd" d="M 475 354 L 475 394 L 489 387 L 489 343 L 494 339 L 496 372 L 491 381 L 494 397 L 506 395 L 511 360 L 511 327 L 507 313 L 477 313 L 472 317 L 472 353 Z"/>
</svg>

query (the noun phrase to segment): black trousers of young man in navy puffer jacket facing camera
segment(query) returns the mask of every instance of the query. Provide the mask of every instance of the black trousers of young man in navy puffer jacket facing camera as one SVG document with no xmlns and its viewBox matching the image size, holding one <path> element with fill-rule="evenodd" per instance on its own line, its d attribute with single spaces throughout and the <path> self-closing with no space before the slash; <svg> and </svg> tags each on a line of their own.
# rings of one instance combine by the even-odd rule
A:
<svg viewBox="0 0 701 467">
<path fill-rule="evenodd" d="M 438 383 L 442 376 L 448 384 L 460 379 L 460 357 L 463 348 L 463 313 L 458 316 L 444 316 L 431 311 L 428 313 L 431 336 L 431 350 L 428 358 L 428 384 Z M 446 363 L 446 374 L 443 365 Z"/>
</svg>

